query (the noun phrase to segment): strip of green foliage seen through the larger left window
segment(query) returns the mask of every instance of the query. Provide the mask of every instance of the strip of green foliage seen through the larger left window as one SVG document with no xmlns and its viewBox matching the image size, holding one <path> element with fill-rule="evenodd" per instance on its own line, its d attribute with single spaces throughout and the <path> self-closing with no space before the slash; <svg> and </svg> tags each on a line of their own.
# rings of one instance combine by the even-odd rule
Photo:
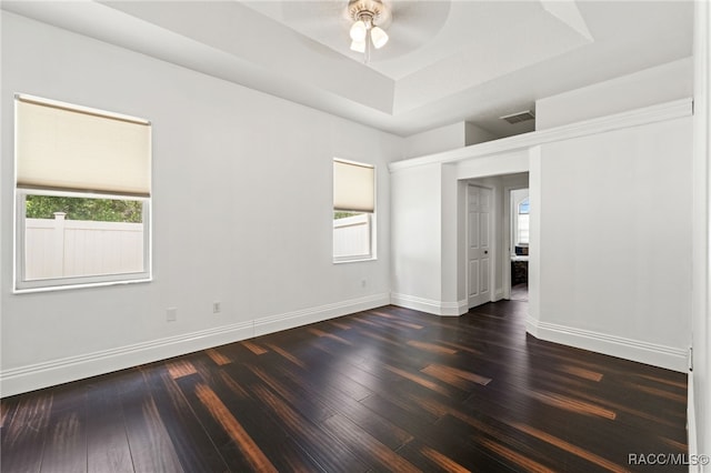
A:
<svg viewBox="0 0 711 473">
<path fill-rule="evenodd" d="M 67 220 L 129 223 L 143 221 L 143 202 L 138 200 L 27 195 L 24 202 L 28 219 L 53 219 L 54 212 L 64 212 Z"/>
</svg>

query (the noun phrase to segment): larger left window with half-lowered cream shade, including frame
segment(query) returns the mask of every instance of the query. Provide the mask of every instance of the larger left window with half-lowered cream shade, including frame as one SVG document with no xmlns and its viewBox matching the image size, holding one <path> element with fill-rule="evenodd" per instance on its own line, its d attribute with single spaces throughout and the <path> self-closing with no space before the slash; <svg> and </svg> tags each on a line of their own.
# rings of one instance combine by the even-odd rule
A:
<svg viewBox="0 0 711 473">
<path fill-rule="evenodd" d="M 150 279 L 151 125 L 16 97 L 16 291 Z"/>
</svg>

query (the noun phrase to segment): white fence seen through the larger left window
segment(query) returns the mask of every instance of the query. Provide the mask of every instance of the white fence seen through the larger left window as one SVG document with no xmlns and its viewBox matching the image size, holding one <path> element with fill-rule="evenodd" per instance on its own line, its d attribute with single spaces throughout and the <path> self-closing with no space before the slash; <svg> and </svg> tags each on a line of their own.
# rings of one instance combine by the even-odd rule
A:
<svg viewBox="0 0 711 473">
<path fill-rule="evenodd" d="M 26 219 L 26 278 L 68 278 L 143 271 L 143 224 Z"/>
</svg>

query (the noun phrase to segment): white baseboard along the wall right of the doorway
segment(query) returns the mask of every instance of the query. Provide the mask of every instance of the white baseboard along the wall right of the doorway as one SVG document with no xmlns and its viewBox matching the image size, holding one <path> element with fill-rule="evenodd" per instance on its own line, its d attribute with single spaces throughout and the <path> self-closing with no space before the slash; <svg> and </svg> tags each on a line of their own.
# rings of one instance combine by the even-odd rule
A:
<svg viewBox="0 0 711 473">
<path fill-rule="evenodd" d="M 685 373 L 689 361 L 685 349 L 660 345 L 641 340 L 558 325 L 528 318 L 527 331 L 537 339 L 632 360 L 652 366 Z"/>
</svg>

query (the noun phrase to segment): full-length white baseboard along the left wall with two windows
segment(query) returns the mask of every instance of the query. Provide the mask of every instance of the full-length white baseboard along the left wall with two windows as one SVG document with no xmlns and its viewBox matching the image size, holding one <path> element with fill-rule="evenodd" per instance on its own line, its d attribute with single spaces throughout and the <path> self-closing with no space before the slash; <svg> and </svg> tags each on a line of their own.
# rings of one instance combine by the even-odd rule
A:
<svg viewBox="0 0 711 473">
<path fill-rule="evenodd" d="M 3 370 L 0 372 L 0 396 L 10 396 L 152 363 L 389 303 L 389 294 L 370 295 L 298 312 Z"/>
</svg>

